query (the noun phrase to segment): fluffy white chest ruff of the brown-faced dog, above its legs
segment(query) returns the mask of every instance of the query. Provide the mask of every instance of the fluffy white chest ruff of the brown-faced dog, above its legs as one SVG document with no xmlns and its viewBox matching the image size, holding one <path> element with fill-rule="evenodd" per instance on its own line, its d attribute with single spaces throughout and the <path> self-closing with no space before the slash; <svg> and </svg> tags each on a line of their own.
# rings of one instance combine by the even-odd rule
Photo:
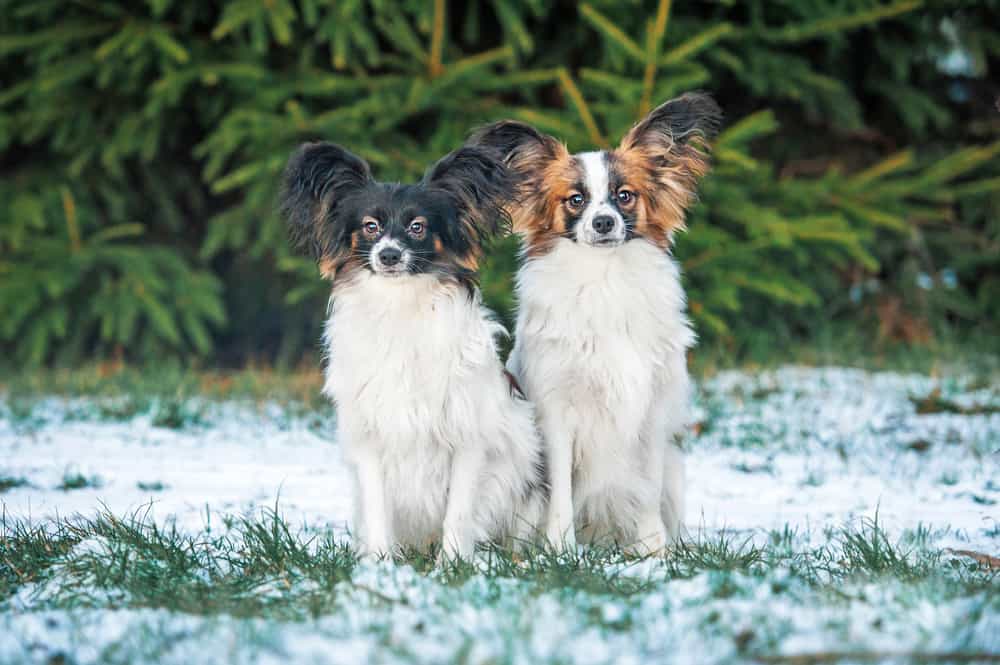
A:
<svg viewBox="0 0 1000 665">
<path fill-rule="evenodd" d="M 512 364 L 540 409 L 562 391 L 576 406 L 583 401 L 605 412 L 603 423 L 627 439 L 663 384 L 686 385 L 686 374 L 672 375 L 683 371 L 694 333 L 679 270 L 655 246 L 631 241 L 608 249 L 561 240 L 524 265 L 518 294 Z"/>
</svg>

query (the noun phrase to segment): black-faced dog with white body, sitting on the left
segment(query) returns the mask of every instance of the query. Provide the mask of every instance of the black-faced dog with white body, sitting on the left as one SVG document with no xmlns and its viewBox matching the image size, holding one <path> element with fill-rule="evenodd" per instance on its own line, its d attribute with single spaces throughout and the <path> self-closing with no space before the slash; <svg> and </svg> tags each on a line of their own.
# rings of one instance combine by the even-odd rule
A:
<svg viewBox="0 0 1000 665">
<path fill-rule="evenodd" d="M 482 243 L 501 226 L 512 180 L 463 148 L 416 185 L 376 182 L 362 159 L 303 145 L 283 209 L 333 281 L 324 392 L 353 467 L 364 554 L 526 538 L 544 505 L 531 405 L 497 356 L 505 334 L 481 304 Z"/>
</svg>

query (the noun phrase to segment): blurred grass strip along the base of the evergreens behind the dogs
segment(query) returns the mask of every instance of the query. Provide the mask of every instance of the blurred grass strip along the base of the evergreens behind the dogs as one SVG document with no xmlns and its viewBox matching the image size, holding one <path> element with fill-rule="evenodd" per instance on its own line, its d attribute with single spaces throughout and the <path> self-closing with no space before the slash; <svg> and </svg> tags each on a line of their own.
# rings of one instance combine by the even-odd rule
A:
<svg viewBox="0 0 1000 665">
<path fill-rule="evenodd" d="M 692 374 L 708 377 L 720 370 L 776 368 L 784 364 L 839 365 L 937 375 L 962 373 L 981 385 L 996 385 L 1000 355 L 984 353 L 995 346 L 990 336 L 957 336 L 942 331 L 926 345 L 873 343 L 870 331 L 856 326 L 829 327 L 810 340 L 780 340 L 760 331 L 736 345 L 715 343 L 696 348 Z M 76 368 L 12 370 L 0 378 L 0 395 L 13 422 L 31 427 L 41 417 L 38 405 L 47 397 L 86 397 L 75 414 L 80 419 L 122 421 L 151 414 L 155 425 L 183 428 L 202 424 L 207 404 L 243 401 L 276 403 L 298 413 L 328 415 L 329 400 L 321 393 L 320 361 L 295 369 L 248 366 L 242 369 L 184 367 L 167 363 L 141 367 L 100 363 Z M 766 395 L 750 395 L 754 399 Z M 955 413 L 993 413 L 995 407 L 963 408 L 935 396 L 915 396 L 922 408 Z M 972 409 L 971 411 L 969 409 Z"/>
</svg>

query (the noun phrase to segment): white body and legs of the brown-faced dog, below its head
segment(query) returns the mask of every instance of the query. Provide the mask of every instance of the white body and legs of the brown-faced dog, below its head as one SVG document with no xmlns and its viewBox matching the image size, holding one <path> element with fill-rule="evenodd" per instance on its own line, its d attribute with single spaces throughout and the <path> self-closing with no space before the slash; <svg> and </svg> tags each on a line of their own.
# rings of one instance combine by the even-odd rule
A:
<svg viewBox="0 0 1000 665">
<path fill-rule="evenodd" d="M 579 223 L 584 223 L 581 220 Z M 518 273 L 508 369 L 535 403 L 548 451 L 545 535 L 656 552 L 684 517 L 672 439 L 688 423 L 695 341 L 676 263 L 653 244 L 562 238 Z"/>
</svg>

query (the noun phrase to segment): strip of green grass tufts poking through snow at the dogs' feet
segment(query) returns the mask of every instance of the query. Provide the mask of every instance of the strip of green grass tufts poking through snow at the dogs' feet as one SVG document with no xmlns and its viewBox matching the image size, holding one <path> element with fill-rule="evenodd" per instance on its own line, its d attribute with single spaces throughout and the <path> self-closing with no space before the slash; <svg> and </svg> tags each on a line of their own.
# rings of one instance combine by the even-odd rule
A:
<svg viewBox="0 0 1000 665">
<path fill-rule="evenodd" d="M 223 533 L 196 535 L 158 526 L 144 512 L 36 525 L 5 518 L 2 531 L 0 606 L 27 585 L 40 584 L 41 606 L 48 608 L 164 608 L 301 620 L 334 611 L 338 585 L 367 589 L 354 582 L 357 557 L 347 545 L 329 533 L 296 530 L 274 511 L 233 520 Z M 474 562 L 441 565 L 434 564 L 433 552 L 409 552 L 399 563 L 445 586 L 508 579 L 530 593 L 562 596 L 628 598 L 702 574 L 710 574 L 719 597 L 746 579 L 781 579 L 833 602 L 849 597 L 845 589 L 886 580 L 931 589 L 938 599 L 1000 592 L 996 570 L 927 548 L 925 534 L 893 543 L 877 523 L 866 522 L 830 535 L 810 547 L 787 529 L 770 534 L 766 544 L 713 534 L 648 561 L 595 547 L 522 554 L 487 548 Z"/>
</svg>

